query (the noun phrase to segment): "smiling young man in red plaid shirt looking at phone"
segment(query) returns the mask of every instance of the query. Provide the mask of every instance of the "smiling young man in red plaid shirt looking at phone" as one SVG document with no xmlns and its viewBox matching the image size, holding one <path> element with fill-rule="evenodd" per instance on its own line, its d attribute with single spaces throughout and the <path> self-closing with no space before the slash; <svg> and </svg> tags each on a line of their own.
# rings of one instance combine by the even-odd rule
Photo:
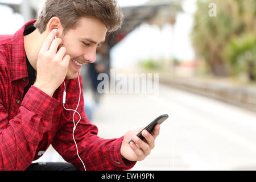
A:
<svg viewBox="0 0 256 182">
<path fill-rule="evenodd" d="M 102 139 L 85 115 L 79 71 L 93 63 L 107 32 L 121 26 L 115 0 L 48 0 L 45 14 L 14 35 L 0 36 L 0 170 L 126 170 L 154 148 L 160 126 L 142 141 L 130 130 Z M 56 37 L 56 39 L 55 39 Z M 65 85 L 64 85 L 65 83 Z M 81 86 L 82 88 L 82 86 Z M 73 111 L 81 121 L 73 140 Z M 74 115 L 74 121 L 79 121 Z M 134 142 L 129 144 L 133 139 Z M 31 164 L 49 144 L 68 163 Z M 82 161 L 82 162 L 81 162 Z"/>
</svg>

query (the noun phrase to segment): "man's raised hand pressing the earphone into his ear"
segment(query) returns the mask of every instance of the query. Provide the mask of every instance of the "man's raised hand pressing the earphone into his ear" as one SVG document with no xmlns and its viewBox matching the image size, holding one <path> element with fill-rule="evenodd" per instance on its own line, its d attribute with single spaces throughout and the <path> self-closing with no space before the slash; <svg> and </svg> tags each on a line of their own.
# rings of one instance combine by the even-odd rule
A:
<svg viewBox="0 0 256 182">
<path fill-rule="evenodd" d="M 52 96 L 65 80 L 71 57 L 65 55 L 65 47 L 57 48 L 63 43 L 60 38 L 54 39 L 57 30 L 49 33 L 38 55 L 36 64 L 36 82 L 34 86 Z"/>
</svg>

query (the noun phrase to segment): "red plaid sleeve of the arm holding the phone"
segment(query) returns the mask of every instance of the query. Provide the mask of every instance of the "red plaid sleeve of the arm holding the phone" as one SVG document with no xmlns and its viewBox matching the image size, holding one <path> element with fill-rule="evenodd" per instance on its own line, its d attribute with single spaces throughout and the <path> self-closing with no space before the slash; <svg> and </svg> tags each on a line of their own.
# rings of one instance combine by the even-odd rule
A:
<svg viewBox="0 0 256 182">
<path fill-rule="evenodd" d="M 77 85 L 77 84 L 74 84 Z M 77 86 L 72 88 L 72 85 L 67 86 L 72 92 L 69 92 L 69 98 L 71 103 L 78 101 Z M 82 88 L 82 86 L 81 86 Z M 73 94 L 73 97 L 71 95 Z M 68 92 L 67 92 L 68 94 Z M 76 96 L 76 97 L 75 97 Z M 74 99 L 73 99 L 74 98 Z M 97 136 L 98 129 L 95 125 L 90 123 L 89 119 L 85 115 L 84 99 L 81 93 L 81 101 L 78 108 L 78 112 L 81 115 L 81 121 L 75 130 L 75 139 L 77 142 L 79 155 L 85 164 L 86 170 L 127 170 L 132 168 L 136 162 L 123 161 L 120 153 L 123 137 L 115 139 L 103 139 Z M 75 105 L 69 105 L 71 108 L 75 108 Z M 65 112 L 64 112 L 65 113 Z M 68 113 L 67 113 L 68 115 Z M 63 116 L 64 126 L 56 134 L 53 140 L 52 146 L 57 152 L 67 161 L 72 163 L 80 170 L 84 170 L 80 159 L 77 156 L 76 146 L 73 141 L 73 112 L 69 113 L 69 117 Z M 75 121 L 77 122 L 79 117 L 75 115 Z"/>
</svg>

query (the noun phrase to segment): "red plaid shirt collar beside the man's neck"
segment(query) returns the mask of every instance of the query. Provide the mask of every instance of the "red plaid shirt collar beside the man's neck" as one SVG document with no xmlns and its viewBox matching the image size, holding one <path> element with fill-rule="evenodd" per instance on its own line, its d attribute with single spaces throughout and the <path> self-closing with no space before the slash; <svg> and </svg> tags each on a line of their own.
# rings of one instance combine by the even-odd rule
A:
<svg viewBox="0 0 256 182">
<path fill-rule="evenodd" d="M 23 34 L 25 27 L 35 22 L 36 20 L 27 22 L 13 36 L 11 41 L 11 81 L 28 77 Z"/>
</svg>

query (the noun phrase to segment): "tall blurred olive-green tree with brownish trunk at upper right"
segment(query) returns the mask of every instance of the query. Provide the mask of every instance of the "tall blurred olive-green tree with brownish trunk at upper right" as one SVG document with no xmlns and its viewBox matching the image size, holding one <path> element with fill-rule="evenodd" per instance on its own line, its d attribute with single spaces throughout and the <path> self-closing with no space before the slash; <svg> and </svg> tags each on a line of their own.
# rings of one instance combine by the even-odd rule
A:
<svg viewBox="0 0 256 182">
<path fill-rule="evenodd" d="M 216 4 L 217 16 L 209 16 L 210 3 Z M 236 19 L 239 18 L 237 9 L 238 3 L 232 0 L 197 1 L 192 44 L 197 55 L 207 61 L 213 75 L 228 75 L 220 52 L 233 34 L 240 34 L 244 30 L 241 20 Z"/>
</svg>

